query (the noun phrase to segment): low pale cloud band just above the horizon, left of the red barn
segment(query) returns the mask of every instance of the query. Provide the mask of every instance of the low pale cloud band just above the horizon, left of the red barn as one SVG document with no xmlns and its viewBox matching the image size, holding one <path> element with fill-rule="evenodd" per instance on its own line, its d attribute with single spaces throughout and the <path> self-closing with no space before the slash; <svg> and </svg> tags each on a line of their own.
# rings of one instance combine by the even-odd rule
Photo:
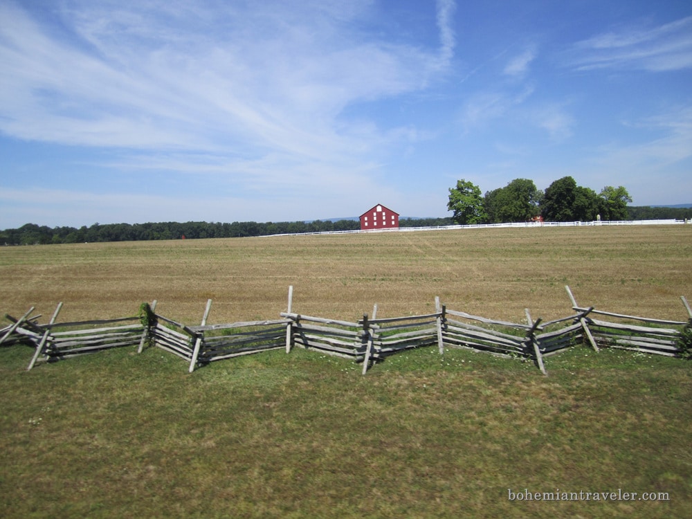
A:
<svg viewBox="0 0 692 519">
<path fill-rule="evenodd" d="M 197 163 L 190 156 L 144 157 L 144 162 L 114 163 L 118 181 L 111 192 L 89 188 L 39 188 L 30 185 L 12 187 L 0 180 L 0 229 L 15 228 L 33 222 L 49 226 L 80 226 L 99 221 L 102 224 L 145 221 L 285 221 L 315 217 L 348 217 L 354 215 L 353 200 L 363 193 L 378 193 L 394 201 L 401 195 L 393 186 L 378 183 L 376 165 L 359 164 L 354 171 L 337 169 L 331 164 L 286 163 L 276 157 L 265 157 L 254 163 L 230 163 L 230 172 L 212 159 Z M 279 163 L 280 167 L 276 167 Z M 321 167 L 320 167 L 321 166 Z M 136 167 L 138 175 L 128 175 Z M 188 170 L 188 176 L 170 172 Z M 152 171 L 160 185 L 136 180 L 136 191 L 125 187 L 125 181 L 140 179 L 142 171 Z M 219 177 L 242 174 L 246 182 L 226 185 Z M 146 189 L 144 186 L 146 185 Z M 197 188 L 201 186 L 201 188 Z M 120 190 L 122 188 L 122 190 Z M 325 196 L 337 192 L 338 197 Z M 297 203 L 300 193 L 300 203 Z M 375 203 L 373 201 L 372 203 Z"/>
</svg>

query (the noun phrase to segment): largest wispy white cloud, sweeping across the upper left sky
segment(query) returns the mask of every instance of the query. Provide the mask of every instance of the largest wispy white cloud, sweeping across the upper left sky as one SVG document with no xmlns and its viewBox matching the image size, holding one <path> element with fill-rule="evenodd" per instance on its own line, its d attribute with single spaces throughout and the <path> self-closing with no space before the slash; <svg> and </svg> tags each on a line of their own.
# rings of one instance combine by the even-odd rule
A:
<svg viewBox="0 0 692 519">
<path fill-rule="evenodd" d="M 429 51 L 363 29 L 369 1 L 58 5 L 53 26 L 0 6 L 12 21 L 0 26 L 4 134 L 339 161 L 392 135 L 364 140 L 360 123 L 340 118 L 345 107 L 423 88 L 454 47 L 449 0 L 437 10 L 441 50 Z"/>
</svg>

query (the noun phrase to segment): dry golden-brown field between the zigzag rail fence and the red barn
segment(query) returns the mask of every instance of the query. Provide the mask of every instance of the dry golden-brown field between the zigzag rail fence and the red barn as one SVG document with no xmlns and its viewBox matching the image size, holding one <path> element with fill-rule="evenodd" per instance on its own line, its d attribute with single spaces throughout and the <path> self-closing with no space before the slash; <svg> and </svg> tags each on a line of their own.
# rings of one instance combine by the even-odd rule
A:
<svg viewBox="0 0 692 519">
<path fill-rule="evenodd" d="M 356 319 L 448 308 L 524 320 L 584 306 L 684 319 L 692 298 L 692 226 L 512 228 L 0 248 L 0 311 L 60 320 L 120 317 L 141 302 L 197 322 L 295 311 Z"/>
</svg>

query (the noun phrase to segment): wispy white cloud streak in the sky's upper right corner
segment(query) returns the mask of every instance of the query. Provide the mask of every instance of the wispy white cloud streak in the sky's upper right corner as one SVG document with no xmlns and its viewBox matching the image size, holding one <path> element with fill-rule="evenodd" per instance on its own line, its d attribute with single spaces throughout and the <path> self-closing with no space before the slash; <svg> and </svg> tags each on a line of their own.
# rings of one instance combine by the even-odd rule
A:
<svg viewBox="0 0 692 519">
<path fill-rule="evenodd" d="M 692 67 L 692 17 L 653 27 L 626 27 L 576 43 L 567 64 L 579 70 L 676 71 Z"/>
</svg>

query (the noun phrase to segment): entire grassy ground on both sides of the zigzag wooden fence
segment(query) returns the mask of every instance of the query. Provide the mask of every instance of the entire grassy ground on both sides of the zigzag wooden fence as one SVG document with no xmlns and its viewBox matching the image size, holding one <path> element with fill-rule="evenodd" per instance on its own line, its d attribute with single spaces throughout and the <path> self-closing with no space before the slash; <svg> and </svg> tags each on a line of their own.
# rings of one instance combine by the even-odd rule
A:
<svg viewBox="0 0 692 519">
<path fill-rule="evenodd" d="M 0 248 L 0 311 L 45 322 L 158 313 L 450 309 L 522 321 L 579 304 L 685 320 L 692 226 L 515 228 Z M 531 363 L 425 348 L 366 376 L 295 349 L 188 374 L 156 348 L 26 372 L 0 347 L 0 516 L 684 517 L 689 362 L 587 347 Z M 509 493 L 608 493 L 510 500 Z M 612 500 L 610 493 L 637 493 Z M 642 500 L 644 493 L 656 499 Z"/>
</svg>

